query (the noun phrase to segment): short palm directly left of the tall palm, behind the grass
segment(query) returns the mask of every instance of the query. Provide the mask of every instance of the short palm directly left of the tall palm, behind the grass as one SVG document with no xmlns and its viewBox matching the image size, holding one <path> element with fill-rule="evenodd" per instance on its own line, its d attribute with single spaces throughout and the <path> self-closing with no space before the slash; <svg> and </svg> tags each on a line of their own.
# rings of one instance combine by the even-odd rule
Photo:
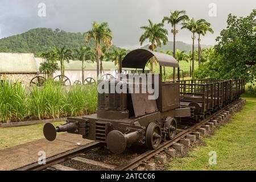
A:
<svg viewBox="0 0 256 182">
<path fill-rule="evenodd" d="M 84 83 L 84 61 L 90 56 L 94 56 L 94 53 L 90 47 L 82 46 L 79 49 L 75 49 L 77 58 L 82 61 L 82 84 Z"/>
</svg>

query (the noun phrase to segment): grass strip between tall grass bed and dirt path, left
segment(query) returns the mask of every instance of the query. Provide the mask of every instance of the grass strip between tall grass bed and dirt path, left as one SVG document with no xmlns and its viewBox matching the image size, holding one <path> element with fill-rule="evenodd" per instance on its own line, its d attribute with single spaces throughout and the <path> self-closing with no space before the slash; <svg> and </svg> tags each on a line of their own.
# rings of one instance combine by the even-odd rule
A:
<svg viewBox="0 0 256 182">
<path fill-rule="evenodd" d="M 57 126 L 64 122 L 55 122 Z M 0 150 L 44 138 L 44 124 L 0 128 Z"/>
</svg>

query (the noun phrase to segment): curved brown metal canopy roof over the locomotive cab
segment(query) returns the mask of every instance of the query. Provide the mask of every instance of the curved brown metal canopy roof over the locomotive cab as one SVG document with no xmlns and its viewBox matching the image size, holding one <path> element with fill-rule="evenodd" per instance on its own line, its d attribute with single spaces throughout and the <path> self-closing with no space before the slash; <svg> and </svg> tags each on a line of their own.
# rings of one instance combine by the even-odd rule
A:
<svg viewBox="0 0 256 182">
<path fill-rule="evenodd" d="M 147 64 L 147 61 L 155 56 L 159 62 L 159 65 L 164 67 L 179 67 L 179 63 L 176 59 L 165 53 L 150 51 L 147 49 L 135 49 L 129 52 L 122 61 L 123 68 L 141 68 L 143 69 Z"/>
</svg>

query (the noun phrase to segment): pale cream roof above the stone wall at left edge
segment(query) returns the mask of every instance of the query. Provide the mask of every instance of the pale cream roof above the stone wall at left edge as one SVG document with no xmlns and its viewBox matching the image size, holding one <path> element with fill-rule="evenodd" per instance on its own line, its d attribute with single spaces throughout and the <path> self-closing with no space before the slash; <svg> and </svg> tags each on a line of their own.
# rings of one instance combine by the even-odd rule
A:
<svg viewBox="0 0 256 182">
<path fill-rule="evenodd" d="M 38 73 L 34 54 L 0 53 L 0 73 Z"/>
</svg>

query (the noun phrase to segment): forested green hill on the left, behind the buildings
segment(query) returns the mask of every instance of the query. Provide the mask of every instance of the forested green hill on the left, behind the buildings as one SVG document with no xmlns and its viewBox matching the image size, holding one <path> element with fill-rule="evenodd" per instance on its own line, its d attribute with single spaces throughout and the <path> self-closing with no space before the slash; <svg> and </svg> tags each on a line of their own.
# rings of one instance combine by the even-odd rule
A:
<svg viewBox="0 0 256 182">
<path fill-rule="evenodd" d="M 35 28 L 23 34 L 9 36 L 0 39 L 0 52 L 22 52 L 35 53 L 52 49 L 55 46 L 67 46 L 70 49 L 79 48 L 85 43 L 82 33 L 65 32 L 63 30 L 52 30 L 52 28 Z M 86 46 L 94 47 L 93 40 Z"/>
</svg>

